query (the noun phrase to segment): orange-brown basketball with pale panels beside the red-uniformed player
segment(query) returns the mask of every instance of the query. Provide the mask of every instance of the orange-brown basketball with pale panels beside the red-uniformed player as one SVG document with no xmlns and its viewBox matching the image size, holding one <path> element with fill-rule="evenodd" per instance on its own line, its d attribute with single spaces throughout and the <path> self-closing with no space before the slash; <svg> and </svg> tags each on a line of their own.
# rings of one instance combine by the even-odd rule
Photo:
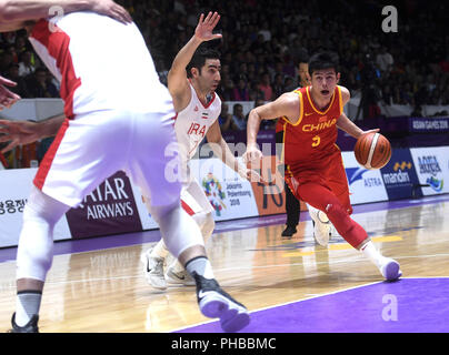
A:
<svg viewBox="0 0 449 355">
<path fill-rule="evenodd" d="M 366 169 L 380 169 L 391 158 L 391 144 L 380 133 L 367 133 L 359 136 L 353 153 L 360 165 Z"/>
</svg>

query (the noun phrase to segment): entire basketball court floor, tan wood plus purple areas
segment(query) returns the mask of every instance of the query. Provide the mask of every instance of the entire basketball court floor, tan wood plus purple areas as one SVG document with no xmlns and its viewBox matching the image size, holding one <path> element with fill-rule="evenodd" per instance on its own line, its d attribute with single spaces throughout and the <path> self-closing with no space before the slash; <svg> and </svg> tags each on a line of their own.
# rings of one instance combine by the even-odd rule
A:
<svg viewBox="0 0 449 355">
<path fill-rule="evenodd" d="M 449 195 L 356 205 L 353 219 L 386 256 L 401 264 L 398 282 L 340 236 L 328 247 L 312 236 L 307 213 L 282 239 L 285 215 L 221 222 L 207 250 L 221 286 L 243 303 L 243 333 L 449 332 Z M 40 331 L 51 333 L 221 332 L 203 317 L 194 287 L 167 292 L 146 282 L 140 254 L 158 231 L 54 244 Z M 10 327 L 16 248 L 0 250 L 0 332 Z"/>
</svg>

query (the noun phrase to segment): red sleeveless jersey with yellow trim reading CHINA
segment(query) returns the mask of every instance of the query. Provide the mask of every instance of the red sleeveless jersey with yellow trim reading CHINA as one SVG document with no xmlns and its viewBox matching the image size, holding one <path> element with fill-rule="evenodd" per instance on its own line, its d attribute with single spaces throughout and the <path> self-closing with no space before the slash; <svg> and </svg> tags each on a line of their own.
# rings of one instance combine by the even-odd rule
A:
<svg viewBox="0 0 449 355">
<path fill-rule="evenodd" d="M 287 118 L 279 119 L 278 130 L 282 125 L 283 153 L 281 161 L 296 169 L 307 169 L 320 164 L 323 158 L 339 150 L 336 145 L 337 120 L 343 112 L 341 88 L 337 87 L 325 111 L 313 104 L 310 87 L 293 91 L 300 101 L 299 120 L 292 124 Z"/>
</svg>

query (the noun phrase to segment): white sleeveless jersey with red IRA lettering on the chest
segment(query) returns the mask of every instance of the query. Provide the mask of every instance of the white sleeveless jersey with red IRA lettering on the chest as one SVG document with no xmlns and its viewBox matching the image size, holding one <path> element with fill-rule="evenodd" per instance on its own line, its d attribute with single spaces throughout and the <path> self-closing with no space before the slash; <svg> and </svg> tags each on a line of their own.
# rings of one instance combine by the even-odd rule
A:
<svg viewBox="0 0 449 355">
<path fill-rule="evenodd" d="M 190 91 L 190 102 L 186 109 L 178 112 L 174 122 L 180 151 L 182 154 L 187 154 L 188 160 L 192 159 L 209 128 L 217 121 L 221 112 L 221 100 L 214 92 L 212 99 L 204 105 L 191 84 Z"/>
</svg>

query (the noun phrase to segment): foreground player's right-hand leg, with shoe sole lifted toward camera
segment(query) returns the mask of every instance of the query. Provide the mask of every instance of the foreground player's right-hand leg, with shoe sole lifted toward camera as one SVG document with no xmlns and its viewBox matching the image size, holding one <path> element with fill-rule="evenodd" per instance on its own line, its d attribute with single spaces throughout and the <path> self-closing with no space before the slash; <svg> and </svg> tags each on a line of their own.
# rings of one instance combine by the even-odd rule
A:
<svg viewBox="0 0 449 355">
<path fill-rule="evenodd" d="M 151 134 L 153 133 L 153 134 Z M 194 220 L 181 207 L 180 171 L 171 116 L 144 114 L 136 120 L 128 173 L 151 199 L 151 211 L 170 253 L 179 258 L 197 285 L 200 311 L 219 317 L 225 331 L 238 331 L 249 323 L 247 308 L 221 290 L 207 257 L 203 237 Z M 171 148 L 171 149 L 170 149 Z M 174 178 L 174 179 L 173 179 Z"/>
</svg>

